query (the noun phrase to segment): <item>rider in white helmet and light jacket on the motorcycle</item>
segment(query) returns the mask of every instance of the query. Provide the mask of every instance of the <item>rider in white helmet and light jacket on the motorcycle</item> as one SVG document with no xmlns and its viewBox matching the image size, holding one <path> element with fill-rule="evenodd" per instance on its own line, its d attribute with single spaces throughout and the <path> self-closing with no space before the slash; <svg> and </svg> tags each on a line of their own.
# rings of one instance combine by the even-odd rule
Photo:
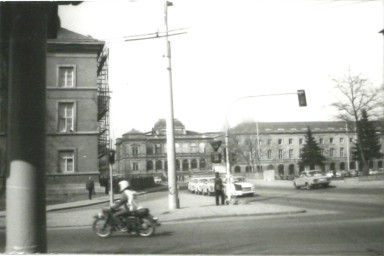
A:
<svg viewBox="0 0 384 256">
<path fill-rule="evenodd" d="M 120 200 L 118 200 L 116 203 L 114 203 L 111 206 L 111 209 L 115 210 L 116 212 L 112 215 L 118 226 L 120 227 L 121 231 L 127 232 L 127 227 L 124 226 L 124 224 L 120 220 L 120 216 L 128 216 L 132 212 L 137 210 L 137 193 L 134 190 L 131 190 L 131 187 L 129 185 L 129 182 L 126 180 L 122 180 L 119 182 L 119 188 L 122 192 Z M 119 209 L 120 206 L 124 205 L 123 208 Z"/>
</svg>

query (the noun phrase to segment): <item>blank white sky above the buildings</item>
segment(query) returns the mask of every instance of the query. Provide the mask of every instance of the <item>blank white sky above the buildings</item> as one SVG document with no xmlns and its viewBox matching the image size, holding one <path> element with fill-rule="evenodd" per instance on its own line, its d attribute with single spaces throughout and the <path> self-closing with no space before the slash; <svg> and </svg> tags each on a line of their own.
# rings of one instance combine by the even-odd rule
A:
<svg viewBox="0 0 384 256">
<path fill-rule="evenodd" d="M 169 29 L 174 117 L 187 130 L 221 131 L 252 121 L 328 121 L 332 77 L 348 69 L 382 83 L 382 1 L 173 0 Z M 123 42 L 164 31 L 160 0 L 87 1 L 62 6 L 62 27 L 109 42 L 114 138 L 150 131 L 169 101 L 165 39 Z M 304 89 L 308 107 L 295 94 Z"/>
</svg>

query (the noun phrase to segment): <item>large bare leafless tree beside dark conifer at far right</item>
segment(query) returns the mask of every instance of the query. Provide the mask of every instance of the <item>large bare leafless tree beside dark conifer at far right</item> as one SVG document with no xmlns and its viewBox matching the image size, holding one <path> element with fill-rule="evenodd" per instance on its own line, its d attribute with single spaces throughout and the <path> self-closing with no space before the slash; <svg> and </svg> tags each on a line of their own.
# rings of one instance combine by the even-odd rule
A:
<svg viewBox="0 0 384 256">
<path fill-rule="evenodd" d="M 331 106 L 337 109 L 336 118 L 345 121 L 349 130 L 356 132 L 357 123 L 364 109 L 372 116 L 378 117 L 376 110 L 382 105 L 380 88 L 372 87 L 368 79 L 361 74 L 353 74 L 350 70 L 343 77 L 332 80 L 340 97 Z M 361 155 L 360 159 L 363 172 L 368 173 L 367 159 L 364 155 Z"/>
</svg>

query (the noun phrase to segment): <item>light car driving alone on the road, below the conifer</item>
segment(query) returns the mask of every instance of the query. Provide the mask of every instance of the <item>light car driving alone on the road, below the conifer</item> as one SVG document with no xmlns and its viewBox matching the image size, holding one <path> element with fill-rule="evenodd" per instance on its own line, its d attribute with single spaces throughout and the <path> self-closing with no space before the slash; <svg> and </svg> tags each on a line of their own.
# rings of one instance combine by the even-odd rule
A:
<svg viewBox="0 0 384 256">
<path fill-rule="evenodd" d="M 296 189 L 305 187 L 311 189 L 314 187 L 328 187 L 331 183 L 331 178 L 323 175 L 321 171 L 312 170 L 312 171 L 303 171 L 300 174 L 300 177 L 293 180 L 293 186 Z"/>
</svg>

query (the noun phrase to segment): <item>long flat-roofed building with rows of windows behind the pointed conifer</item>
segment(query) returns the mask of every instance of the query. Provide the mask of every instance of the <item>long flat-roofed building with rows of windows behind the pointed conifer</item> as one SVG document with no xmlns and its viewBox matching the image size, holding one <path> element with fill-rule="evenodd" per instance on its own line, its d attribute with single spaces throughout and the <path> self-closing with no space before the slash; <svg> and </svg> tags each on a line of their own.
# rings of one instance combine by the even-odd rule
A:
<svg viewBox="0 0 384 256">
<path fill-rule="evenodd" d="M 384 122 L 374 124 L 383 142 Z M 233 129 L 232 136 L 243 143 L 247 138 L 256 142 L 253 150 L 237 155 L 237 162 L 233 164 L 234 172 L 262 173 L 263 170 L 275 170 L 280 176 L 299 174 L 302 169 L 298 163 L 308 127 L 326 158 L 322 167 L 324 171 L 358 168 L 351 158 L 356 133 L 348 130 L 345 122 L 271 122 L 249 124 L 245 132 Z M 369 164 L 373 169 L 383 168 L 383 159 L 375 159 Z"/>
</svg>

